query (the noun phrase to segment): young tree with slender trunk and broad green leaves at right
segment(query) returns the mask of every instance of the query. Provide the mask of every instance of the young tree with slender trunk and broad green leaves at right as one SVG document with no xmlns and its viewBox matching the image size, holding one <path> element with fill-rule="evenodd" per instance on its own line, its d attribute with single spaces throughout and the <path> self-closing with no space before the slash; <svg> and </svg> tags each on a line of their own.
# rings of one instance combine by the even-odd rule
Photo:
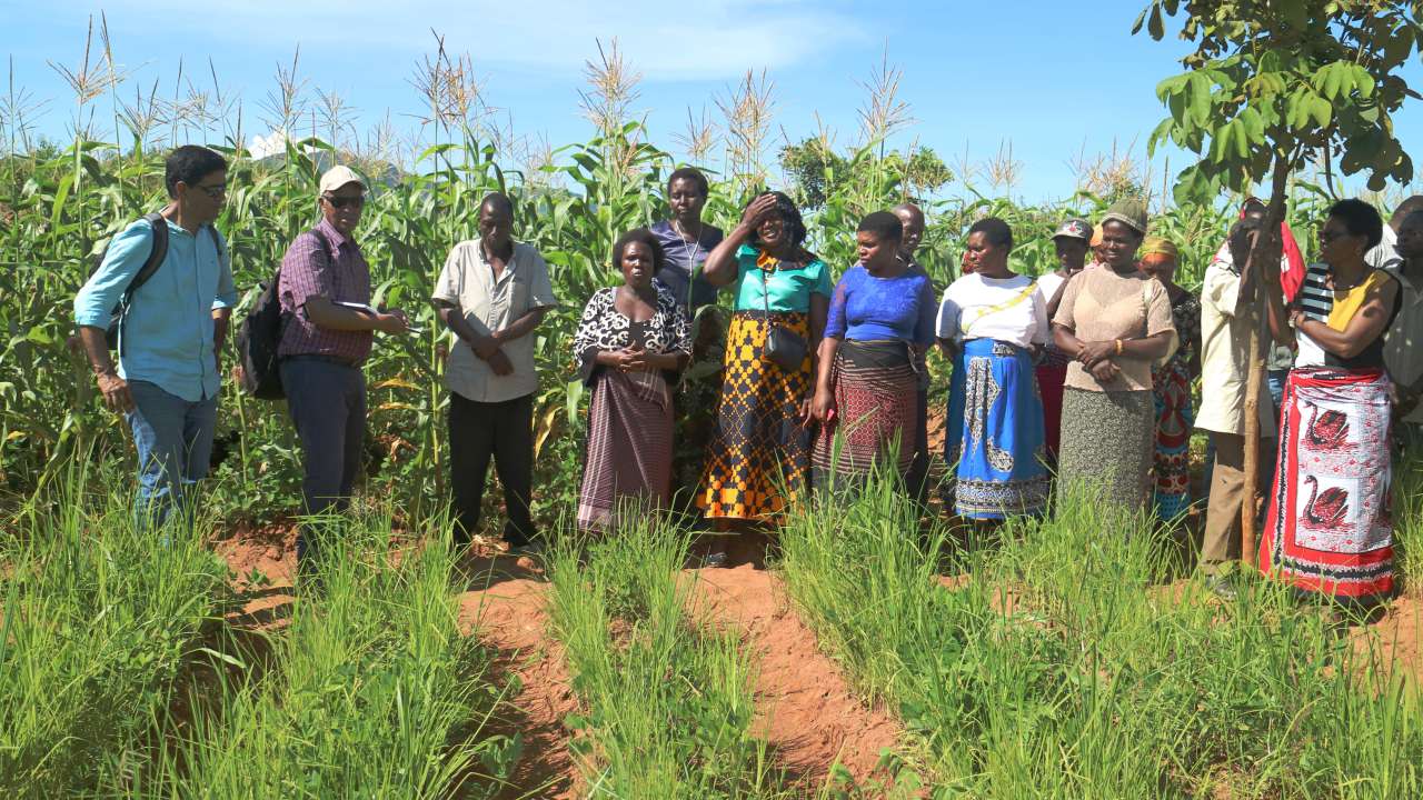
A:
<svg viewBox="0 0 1423 800">
<path fill-rule="evenodd" d="M 1413 178 L 1413 161 L 1393 128 L 1409 97 L 1400 71 L 1423 54 L 1423 1 L 1399 0 L 1151 0 L 1133 33 L 1165 36 L 1165 19 L 1184 16 L 1180 37 L 1194 46 L 1185 71 L 1157 85 L 1170 108 L 1151 134 L 1200 155 L 1177 177 L 1175 199 L 1214 201 L 1269 181 L 1268 218 L 1244 272 L 1259 270 L 1266 290 L 1279 265 L 1279 222 L 1289 175 L 1323 158 L 1345 175 L 1366 174 L 1369 188 Z M 1248 282 L 1255 285 L 1254 280 Z M 1258 298 L 1254 302 L 1259 315 Z M 1259 319 L 1257 316 L 1257 319 Z M 1245 441 L 1259 440 L 1257 397 L 1262 343 L 1251 336 Z M 1242 555 L 1255 552 L 1255 457 L 1245 447 Z"/>
</svg>

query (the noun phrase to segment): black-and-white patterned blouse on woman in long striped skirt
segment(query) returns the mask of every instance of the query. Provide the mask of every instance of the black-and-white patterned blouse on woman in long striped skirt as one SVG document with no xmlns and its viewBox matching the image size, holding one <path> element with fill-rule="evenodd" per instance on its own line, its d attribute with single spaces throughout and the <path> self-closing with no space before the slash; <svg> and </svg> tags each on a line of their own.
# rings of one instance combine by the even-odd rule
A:
<svg viewBox="0 0 1423 800">
<path fill-rule="evenodd" d="M 657 310 L 642 323 L 623 316 L 613 300 L 618 289 L 599 289 L 583 306 L 583 317 L 573 335 L 573 357 L 578 374 L 586 383 L 593 377 L 598 353 L 625 350 L 640 344 L 650 353 L 692 353 L 692 326 L 687 313 L 665 286 L 657 289 Z"/>
</svg>

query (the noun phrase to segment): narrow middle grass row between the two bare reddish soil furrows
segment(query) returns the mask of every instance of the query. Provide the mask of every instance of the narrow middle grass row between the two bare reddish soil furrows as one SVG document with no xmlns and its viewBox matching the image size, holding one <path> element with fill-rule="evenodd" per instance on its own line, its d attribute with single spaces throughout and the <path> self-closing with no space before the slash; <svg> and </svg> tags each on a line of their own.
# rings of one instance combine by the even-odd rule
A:
<svg viewBox="0 0 1423 800">
<path fill-rule="evenodd" d="M 635 518 L 636 515 L 629 515 Z M 558 549 L 551 618 L 583 713 L 586 797 L 780 797 L 766 742 L 750 733 L 751 659 L 713 628 L 679 578 L 687 540 L 643 517 Z"/>
</svg>

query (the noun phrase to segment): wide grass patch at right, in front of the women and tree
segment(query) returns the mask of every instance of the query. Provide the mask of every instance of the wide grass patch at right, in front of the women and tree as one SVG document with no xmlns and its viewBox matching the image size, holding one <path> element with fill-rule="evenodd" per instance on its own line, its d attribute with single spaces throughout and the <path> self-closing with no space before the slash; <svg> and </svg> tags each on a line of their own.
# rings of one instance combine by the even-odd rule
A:
<svg viewBox="0 0 1423 800">
<path fill-rule="evenodd" d="M 1221 605 L 1144 521 L 1066 497 L 938 559 L 879 481 L 794 515 L 784 575 L 821 642 L 898 710 L 943 791 L 992 797 L 1412 797 L 1423 702 L 1328 614 L 1255 584 Z"/>
</svg>

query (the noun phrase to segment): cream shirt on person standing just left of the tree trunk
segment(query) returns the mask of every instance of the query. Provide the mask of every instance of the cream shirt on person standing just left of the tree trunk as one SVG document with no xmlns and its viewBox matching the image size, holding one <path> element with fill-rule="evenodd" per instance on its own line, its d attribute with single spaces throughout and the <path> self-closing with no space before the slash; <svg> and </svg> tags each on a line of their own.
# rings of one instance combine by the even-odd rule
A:
<svg viewBox="0 0 1423 800">
<path fill-rule="evenodd" d="M 1195 427 L 1237 436 L 1245 433 L 1251 326 L 1259 330 L 1261 340 L 1269 336 L 1261 315 L 1249 309 L 1237 315 L 1239 292 L 1241 276 L 1228 262 L 1215 260 L 1205 269 L 1201 285 L 1201 407 L 1195 413 Z M 1261 436 L 1274 438 L 1275 410 L 1264 380 L 1255 401 Z"/>
</svg>

